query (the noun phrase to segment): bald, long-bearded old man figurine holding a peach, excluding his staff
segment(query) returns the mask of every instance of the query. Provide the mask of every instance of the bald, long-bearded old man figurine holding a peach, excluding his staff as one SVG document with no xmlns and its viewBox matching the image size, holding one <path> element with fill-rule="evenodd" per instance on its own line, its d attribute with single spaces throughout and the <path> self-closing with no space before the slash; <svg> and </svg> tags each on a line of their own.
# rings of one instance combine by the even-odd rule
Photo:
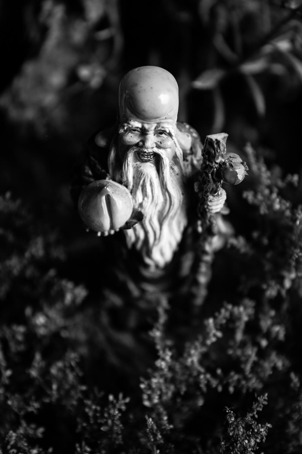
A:
<svg viewBox="0 0 302 454">
<path fill-rule="evenodd" d="M 196 259 L 202 145 L 195 129 L 177 122 L 177 112 L 172 74 L 156 66 L 129 71 L 120 83 L 117 122 L 88 141 L 72 185 L 87 230 L 107 237 L 115 257 L 110 273 L 132 293 L 187 291 L 196 273 L 205 287 L 227 230 L 219 213 L 226 195 L 219 188 L 206 195 L 205 205 L 220 228 Z"/>
</svg>

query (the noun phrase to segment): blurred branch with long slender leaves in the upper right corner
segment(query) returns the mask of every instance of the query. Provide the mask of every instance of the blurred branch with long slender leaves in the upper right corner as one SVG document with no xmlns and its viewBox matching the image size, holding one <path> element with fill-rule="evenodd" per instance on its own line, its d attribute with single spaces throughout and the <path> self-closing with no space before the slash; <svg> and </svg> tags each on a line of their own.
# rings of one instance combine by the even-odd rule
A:
<svg viewBox="0 0 302 454">
<path fill-rule="evenodd" d="M 201 2 L 201 19 L 210 22 L 215 48 L 213 68 L 203 71 L 193 87 L 213 90 L 216 115 L 213 129 L 225 123 L 224 100 L 220 84 L 225 78 L 240 75 L 247 86 L 259 117 L 266 110 L 262 80 L 283 85 L 283 90 L 302 83 L 301 2 L 283 2 L 284 11 L 273 14 L 267 1 Z M 204 4 L 207 6 L 205 7 Z M 275 3 L 275 7 L 277 7 Z M 236 97 L 238 94 L 234 94 Z"/>
</svg>

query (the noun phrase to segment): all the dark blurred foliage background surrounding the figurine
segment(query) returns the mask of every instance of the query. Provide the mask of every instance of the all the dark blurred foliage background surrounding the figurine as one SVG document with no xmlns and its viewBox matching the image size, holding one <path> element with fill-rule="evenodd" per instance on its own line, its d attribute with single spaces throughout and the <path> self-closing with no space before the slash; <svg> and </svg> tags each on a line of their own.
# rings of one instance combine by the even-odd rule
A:
<svg viewBox="0 0 302 454">
<path fill-rule="evenodd" d="M 144 8 L 0 4 L 0 452 L 300 453 L 302 2 Z M 125 303 L 119 257 L 69 200 L 81 143 L 144 64 L 177 78 L 180 120 L 224 129 L 249 166 L 225 188 L 235 235 L 201 307 Z"/>
</svg>

